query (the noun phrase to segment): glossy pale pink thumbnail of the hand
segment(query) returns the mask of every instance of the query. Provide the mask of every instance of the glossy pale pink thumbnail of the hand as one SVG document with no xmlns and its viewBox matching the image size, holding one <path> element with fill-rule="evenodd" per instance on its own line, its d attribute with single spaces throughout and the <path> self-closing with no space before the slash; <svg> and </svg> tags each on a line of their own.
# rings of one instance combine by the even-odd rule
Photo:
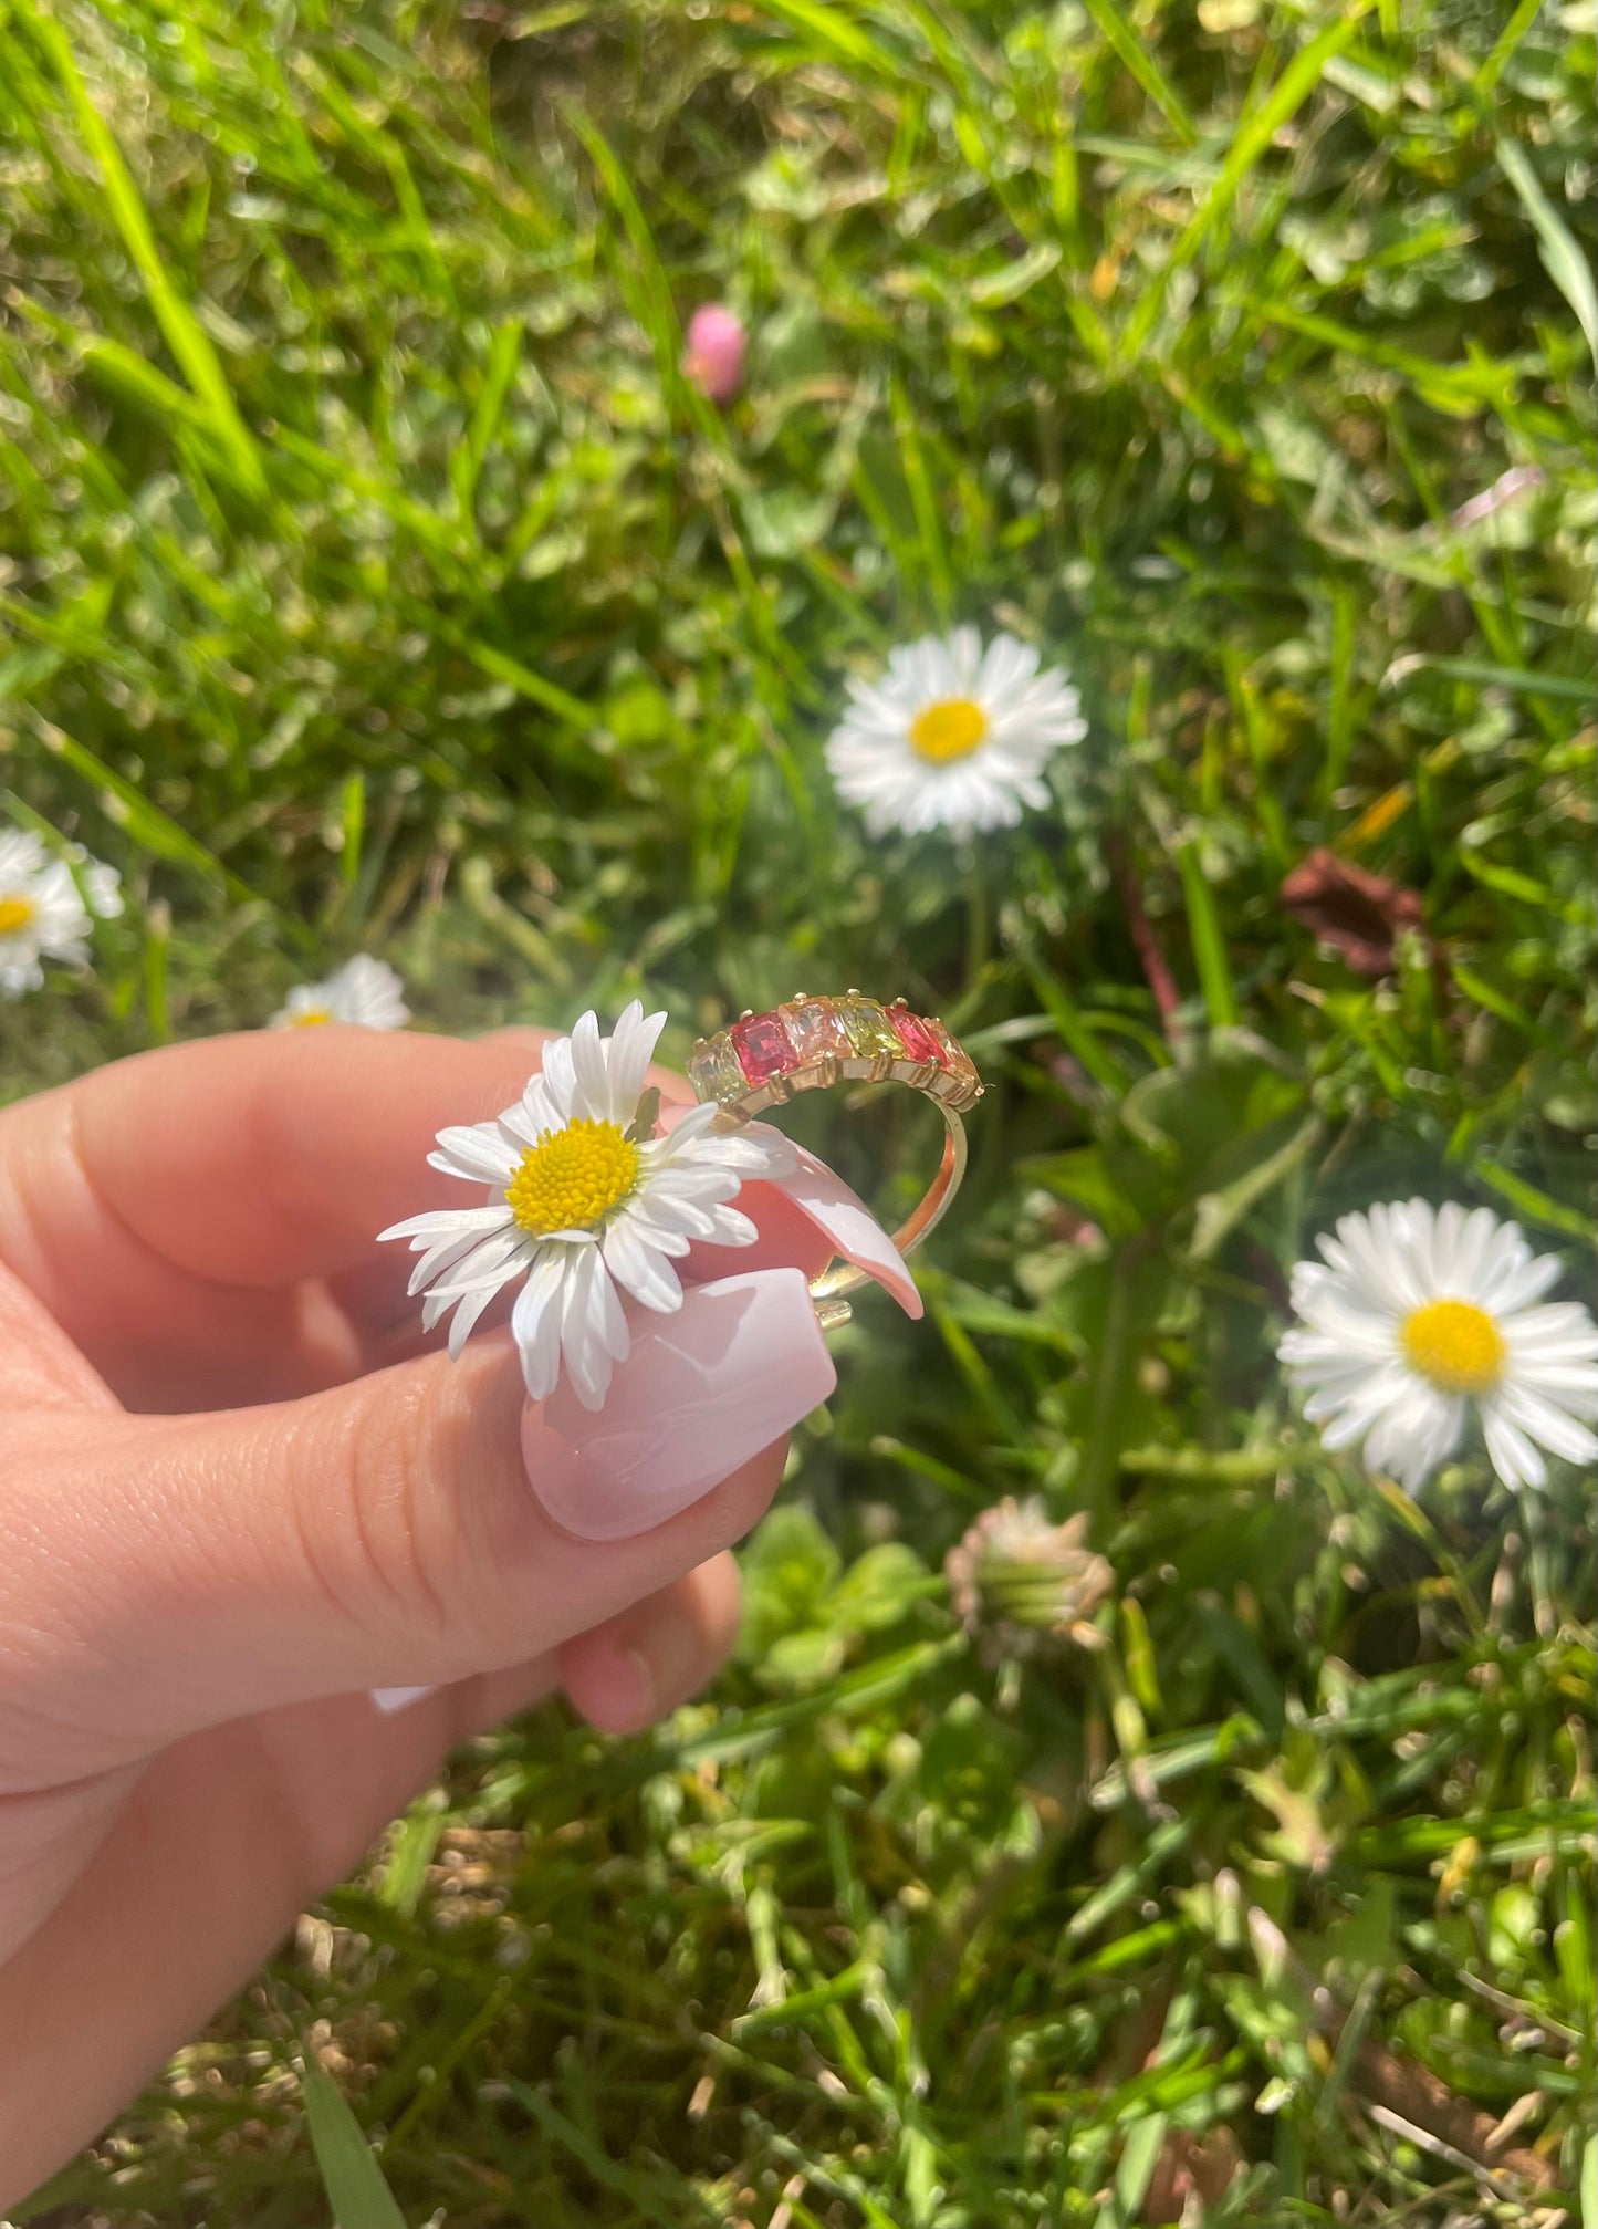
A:
<svg viewBox="0 0 1598 2229">
<path fill-rule="evenodd" d="M 626 1540 L 698 1502 L 836 1384 L 805 1277 L 749 1271 L 640 1324 L 597 1415 L 564 1382 L 526 1409 L 522 1458 L 568 1534 Z"/>
</svg>

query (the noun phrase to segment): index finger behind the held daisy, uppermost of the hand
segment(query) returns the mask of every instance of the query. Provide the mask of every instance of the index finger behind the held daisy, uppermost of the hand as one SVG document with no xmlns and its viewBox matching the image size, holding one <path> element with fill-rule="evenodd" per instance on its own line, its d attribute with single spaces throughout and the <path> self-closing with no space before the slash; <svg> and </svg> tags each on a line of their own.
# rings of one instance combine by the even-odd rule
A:
<svg viewBox="0 0 1598 2229">
<path fill-rule="evenodd" d="M 0 1262 L 94 1355 L 270 1335 L 267 1291 L 377 1259 L 377 1233 L 446 1206 L 432 1137 L 517 1097 L 537 1048 L 325 1028 L 169 1045 L 0 1112 Z M 403 1291 L 403 1271 L 399 1271 Z"/>
</svg>

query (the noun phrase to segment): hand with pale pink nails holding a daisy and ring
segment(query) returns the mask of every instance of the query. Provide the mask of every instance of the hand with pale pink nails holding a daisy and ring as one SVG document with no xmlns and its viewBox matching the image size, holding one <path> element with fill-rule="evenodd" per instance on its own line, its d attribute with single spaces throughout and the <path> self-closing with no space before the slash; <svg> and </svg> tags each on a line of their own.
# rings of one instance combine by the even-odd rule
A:
<svg viewBox="0 0 1598 2229">
<path fill-rule="evenodd" d="M 753 1279 L 753 1373 L 689 1293 L 573 1424 L 559 1393 L 524 1418 L 504 1331 L 421 1351 L 374 1244 L 450 1197 L 432 1132 L 506 1106 L 537 1043 L 261 1032 L 0 1112 L 0 2204 L 455 1741 L 555 1687 L 640 1727 L 729 1647 L 724 1551 L 831 1389 L 802 1277 Z M 528 1467 L 653 1529 L 577 1540 Z M 430 1692 L 379 1712 L 401 1683 Z"/>
</svg>

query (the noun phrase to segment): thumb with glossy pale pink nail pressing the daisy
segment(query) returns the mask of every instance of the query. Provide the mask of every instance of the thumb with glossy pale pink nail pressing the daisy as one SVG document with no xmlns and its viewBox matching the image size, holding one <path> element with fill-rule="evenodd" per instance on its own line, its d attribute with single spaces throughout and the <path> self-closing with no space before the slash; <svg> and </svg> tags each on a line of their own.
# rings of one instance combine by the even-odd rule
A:
<svg viewBox="0 0 1598 2229">
<path fill-rule="evenodd" d="M 29 1783 L 18 1727 L 49 1725 L 60 1781 L 557 1647 L 744 1534 L 834 1384 L 802 1275 L 771 1268 L 651 1317 L 600 1415 L 526 1409 L 497 1335 L 274 1406 L 11 1420 L 0 1785 Z"/>
</svg>

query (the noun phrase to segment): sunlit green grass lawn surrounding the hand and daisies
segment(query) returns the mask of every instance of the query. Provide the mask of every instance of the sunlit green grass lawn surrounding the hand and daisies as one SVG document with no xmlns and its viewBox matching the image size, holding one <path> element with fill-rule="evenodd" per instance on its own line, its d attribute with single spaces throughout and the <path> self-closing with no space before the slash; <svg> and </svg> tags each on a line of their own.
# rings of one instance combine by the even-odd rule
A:
<svg viewBox="0 0 1598 2229">
<path fill-rule="evenodd" d="M 1204 2140 L 1215 2222 L 1591 2229 L 1591 1482 L 1422 1516 L 1270 1362 L 1373 1199 L 1587 1277 L 1591 80 L 1551 0 L 0 0 L 0 802 L 136 896 L 0 1094 L 359 945 L 678 1057 L 903 990 L 998 1086 L 718 1694 L 457 1759 L 20 2220 L 323 2225 L 305 2037 L 412 2225 L 1130 2229 Z M 827 724 L 954 617 L 1092 740 L 869 845 Z M 1424 892 L 1391 983 L 1315 845 Z M 961 1636 L 1007 1491 L 1092 1661 Z"/>
</svg>

